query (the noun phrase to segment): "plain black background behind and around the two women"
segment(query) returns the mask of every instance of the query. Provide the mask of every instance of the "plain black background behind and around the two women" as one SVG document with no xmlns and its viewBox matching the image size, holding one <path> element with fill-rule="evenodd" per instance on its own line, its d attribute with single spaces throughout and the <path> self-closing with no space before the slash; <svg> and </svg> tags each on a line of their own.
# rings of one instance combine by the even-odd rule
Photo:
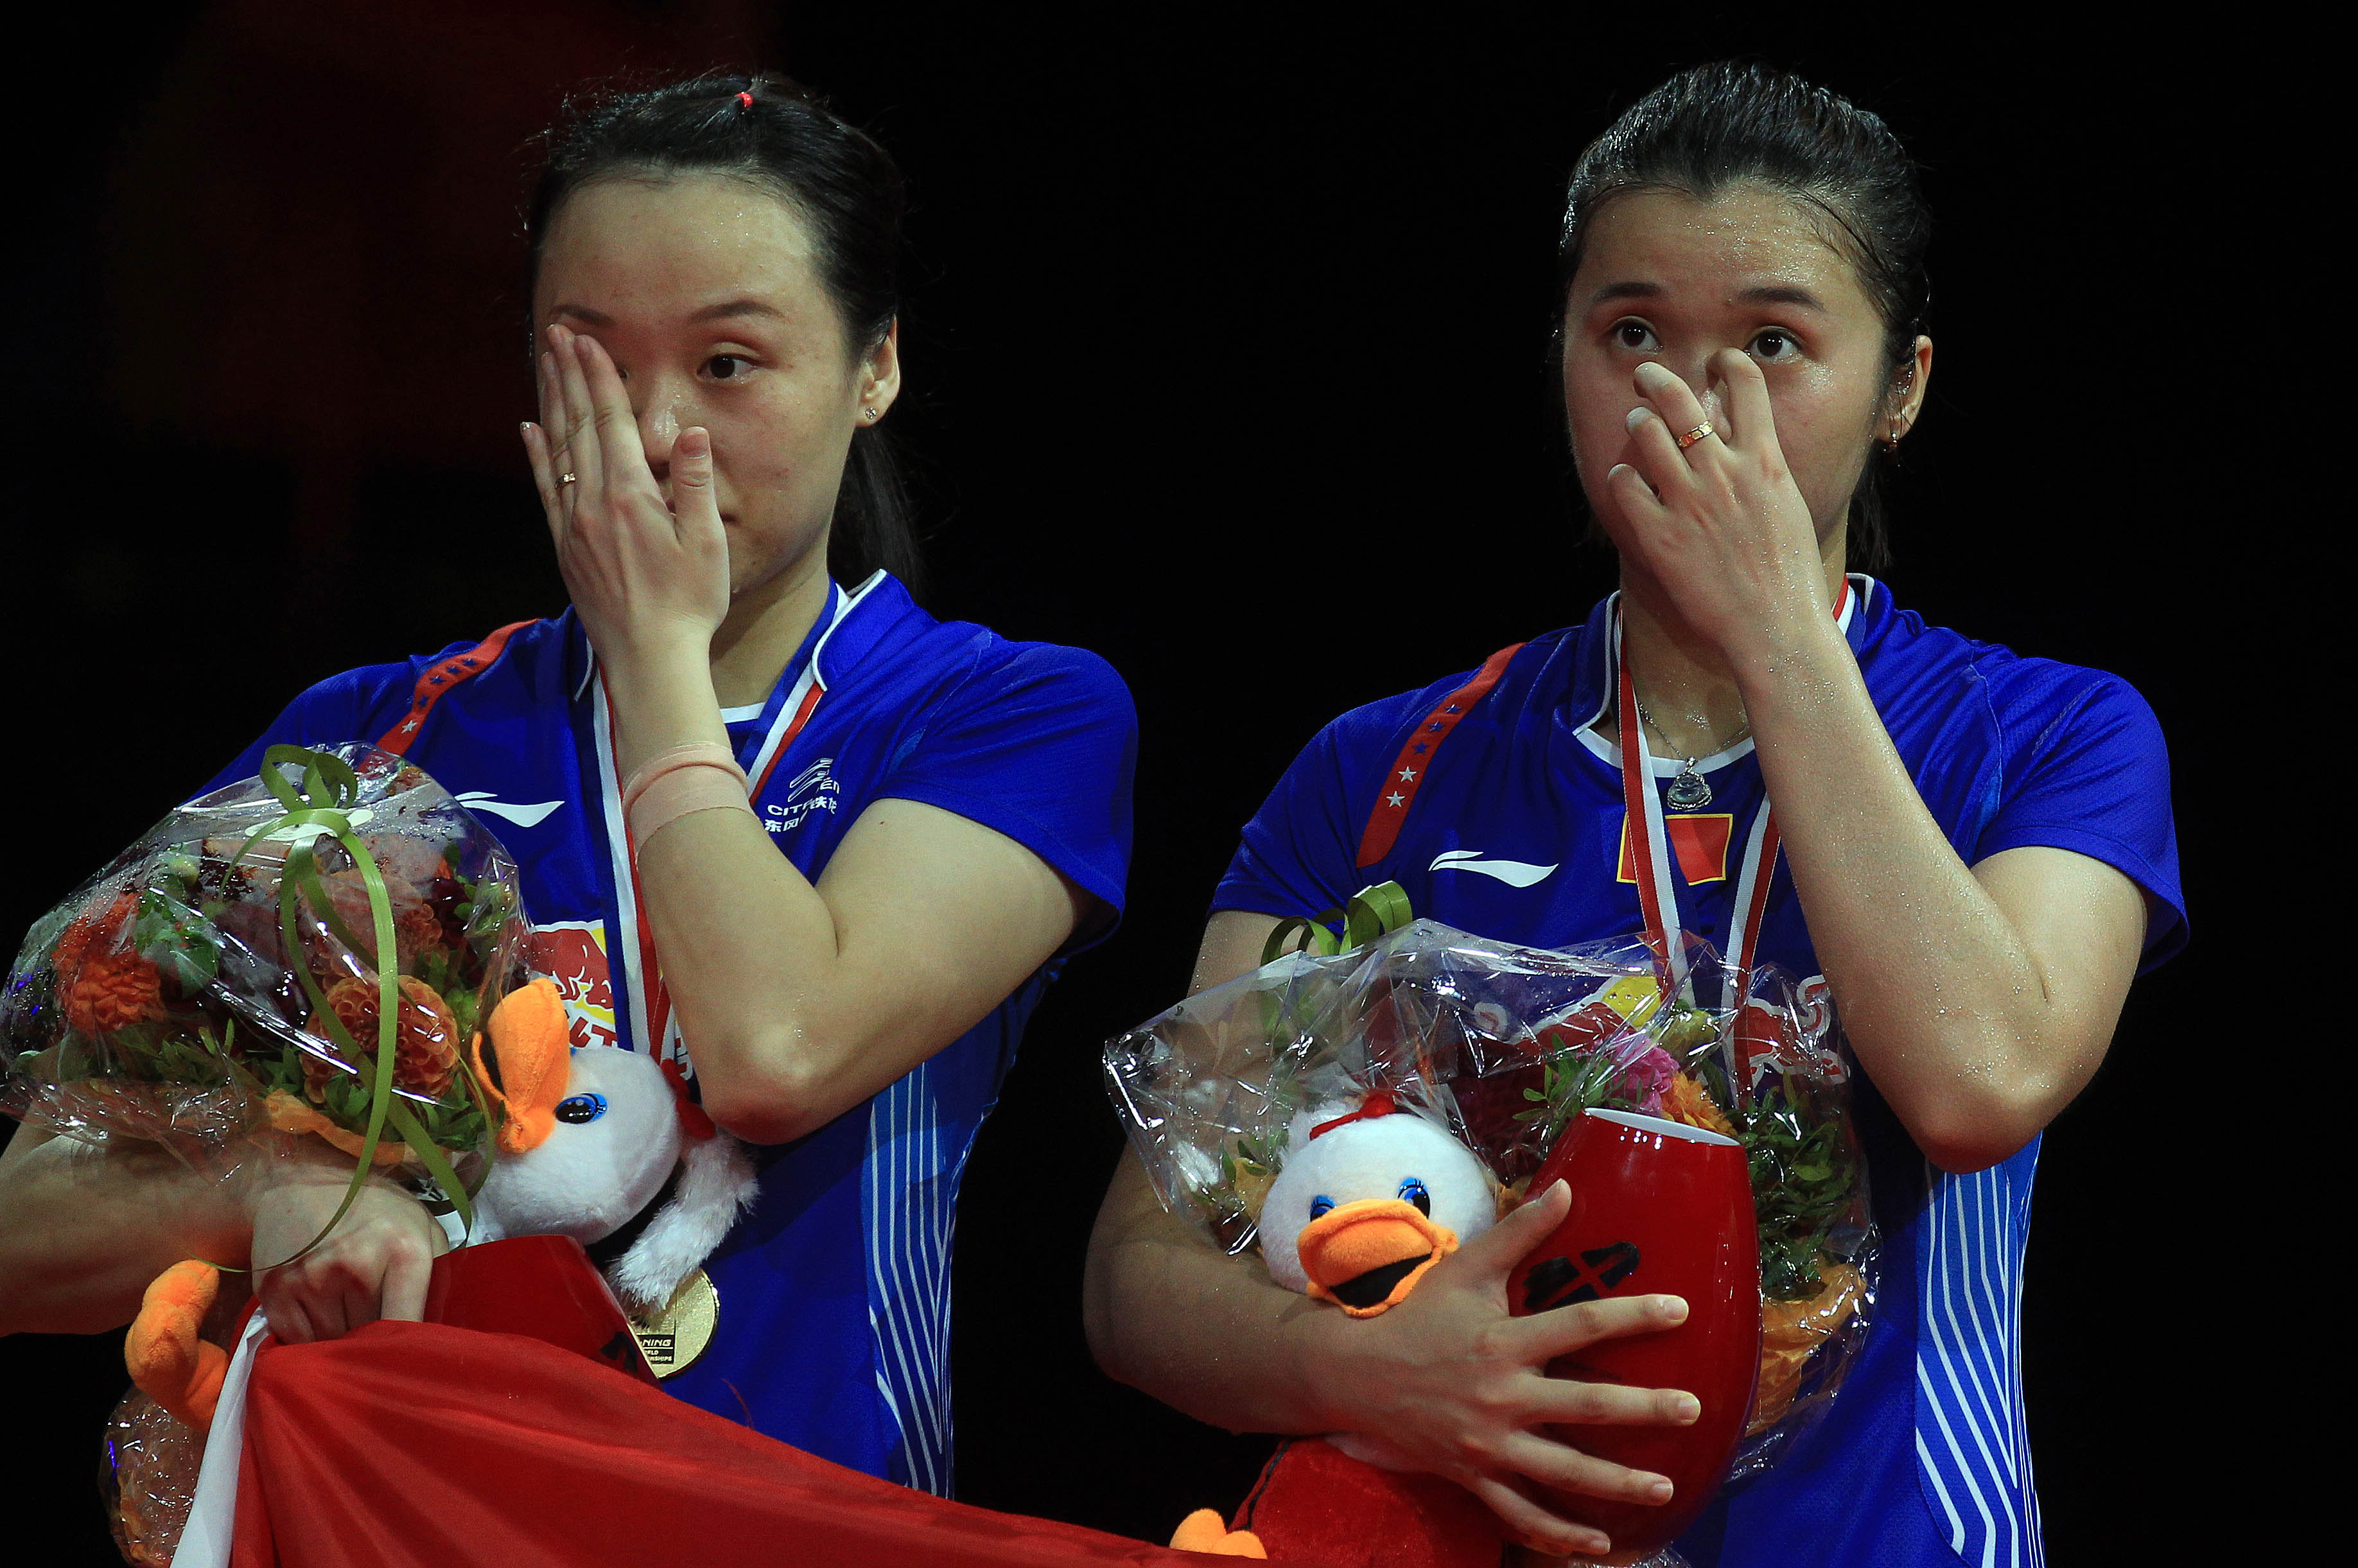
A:
<svg viewBox="0 0 2358 1568">
<path fill-rule="evenodd" d="M 2233 1332 L 2191 1306 L 2214 1243 L 2250 1257 L 2226 1205 L 2273 1191 L 2264 1151 L 2186 1165 L 2254 1087 L 2228 1052 L 2264 1047 L 2221 1045 L 2238 971 L 2212 974 L 2250 962 L 2231 604 L 2257 540 L 2304 549 L 2240 434 L 2283 413 L 2238 373 L 2238 335 L 2275 328 L 2205 295 L 2252 266 L 2250 144 L 2221 137 L 2266 108 L 2242 45 L 1785 7 L 474 9 L 160 7 L 21 87 L 0 931 L 304 684 L 561 608 L 514 450 L 523 137 L 594 73 L 783 66 L 915 186 L 894 424 L 929 608 L 1096 648 L 1144 722 L 1127 922 L 1042 1007 L 967 1174 L 960 1490 L 1158 1540 L 1229 1507 L 1264 1443 L 1113 1386 L 1080 1337 L 1120 1144 L 1096 1047 L 1179 995 L 1238 823 L 1320 722 L 1611 585 L 1547 396 L 1563 174 L 1667 71 L 1759 52 L 1926 172 L 1901 601 L 2129 677 L 2172 738 L 2200 941 L 2049 1134 L 2023 1337 L 2054 1559 L 2188 1544 L 2136 1500 L 2238 1485 L 2250 1443 L 2195 1434 L 2268 1427 L 2252 1386 L 2188 1377 Z M 111 1561 L 90 1478 L 118 1346 L 0 1351 L 42 1561 Z"/>
</svg>

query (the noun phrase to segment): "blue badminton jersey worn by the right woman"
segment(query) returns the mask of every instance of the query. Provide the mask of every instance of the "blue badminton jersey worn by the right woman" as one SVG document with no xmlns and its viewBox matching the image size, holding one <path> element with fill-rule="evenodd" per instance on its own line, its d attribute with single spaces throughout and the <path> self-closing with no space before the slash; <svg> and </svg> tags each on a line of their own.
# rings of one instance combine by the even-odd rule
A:
<svg viewBox="0 0 2358 1568">
<path fill-rule="evenodd" d="M 2143 967 L 2184 946 L 2169 759 L 2143 698 L 2096 670 L 1926 627 L 1872 578 L 1851 587 L 1844 634 L 1959 858 L 2028 844 L 2092 856 L 2146 891 Z M 1344 714 L 1245 828 L 1214 908 L 1309 915 L 1394 879 L 1420 915 L 1502 941 L 1639 931 L 1620 750 L 1596 733 L 1613 679 L 1606 599 L 1587 625 L 1481 674 Z M 1427 733 L 1443 740 L 1420 757 Z M 1712 799 L 1665 806 L 1669 849 L 1686 929 L 1724 948 L 1761 773 L 1750 740 L 1695 769 Z M 1667 788 L 1679 764 L 1655 759 L 1653 771 Z M 1396 837 L 1387 844 L 1375 823 Z M 1783 865 L 1759 957 L 1818 974 Z M 2018 1346 L 2037 1139 L 1952 1177 L 1924 1160 L 1865 1073 L 1853 1085 L 1884 1233 L 1865 1353 L 1825 1419 L 1776 1469 L 1717 1500 L 1679 1549 L 1695 1568 L 2042 1563 Z"/>
</svg>

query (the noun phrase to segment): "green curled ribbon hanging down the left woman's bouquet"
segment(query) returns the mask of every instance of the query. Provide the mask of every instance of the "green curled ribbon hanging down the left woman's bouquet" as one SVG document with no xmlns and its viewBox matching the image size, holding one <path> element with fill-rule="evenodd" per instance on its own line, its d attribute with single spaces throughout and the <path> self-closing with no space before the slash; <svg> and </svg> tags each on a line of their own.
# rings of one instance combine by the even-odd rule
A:
<svg viewBox="0 0 2358 1568">
<path fill-rule="evenodd" d="M 297 778 L 288 778 L 283 769 L 297 769 Z M 417 1155 L 434 1184 L 450 1198 L 457 1210 L 460 1224 L 474 1231 L 474 1193 L 481 1191 L 483 1177 L 490 1174 L 486 1165 L 483 1174 L 476 1177 L 474 1186 L 457 1179 L 450 1160 L 443 1151 L 427 1137 L 427 1129 L 417 1122 L 408 1106 L 394 1094 L 394 1040 L 401 1026 L 401 971 L 396 962 L 394 943 L 394 901 L 384 889 L 384 872 L 377 868 L 377 858 L 368 854 L 368 846 L 354 832 L 351 806 L 361 799 L 361 780 L 351 771 L 351 764 L 335 752 L 316 752 L 302 745 L 274 745 L 262 755 L 262 785 L 285 806 L 285 816 L 274 823 L 257 828 L 231 858 L 231 870 L 252 851 L 262 839 L 285 832 L 288 828 L 316 828 L 318 832 L 295 835 L 288 844 L 288 858 L 278 875 L 278 931 L 285 938 L 288 967 L 302 983 L 304 995 L 311 1000 L 311 1019 L 328 1026 L 328 1035 L 337 1047 L 342 1047 L 354 1066 L 361 1068 L 370 1085 L 368 1094 L 368 1129 L 361 1134 L 361 1155 L 351 1170 L 351 1184 L 344 1188 L 344 1200 L 337 1205 L 328 1224 L 321 1226 L 318 1236 L 307 1240 L 295 1254 L 266 1264 L 269 1269 L 283 1269 L 297 1257 L 328 1240 L 328 1236 L 344 1221 L 351 1205 L 358 1200 L 361 1188 L 368 1186 L 368 1174 L 377 1162 L 377 1146 L 384 1141 L 384 1129 L 401 1137 L 403 1144 Z M 321 837 L 332 837 L 351 856 L 361 872 L 361 887 L 368 891 L 368 915 L 375 948 L 377 967 L 377 1049 L 370 1052 L 344 1021 L 335 1016 L 328 1007 L 328 995 L 318 988 L 311 976 L 311 967 L 302 962 L 302 922 L 297 917 L 297 896 L 309 896 L 311 908 L 321 913 L 321 920 L 335 931 L 354 953 L 361 943 L 354 938 L 344 922 L 337 920 L 335 905 L 328 901 L 328 889 L 321 887 L 318 877 L 318 854 L 311 844 Z M 483 1111 L 486 1127 L 498 1125 L 498 1113 L 490 1108 L 483 1085 L 476 1082 L 474 1063 L 467 1061 L 467 1052 L 460 1049 L 457 1075 L 467 1085 L 469 1099 Z M 493 1139 L 493 1151 L 498 1139 Z M 498 1153 L 493 1153 L 498 1158 Z"/>
</svg>

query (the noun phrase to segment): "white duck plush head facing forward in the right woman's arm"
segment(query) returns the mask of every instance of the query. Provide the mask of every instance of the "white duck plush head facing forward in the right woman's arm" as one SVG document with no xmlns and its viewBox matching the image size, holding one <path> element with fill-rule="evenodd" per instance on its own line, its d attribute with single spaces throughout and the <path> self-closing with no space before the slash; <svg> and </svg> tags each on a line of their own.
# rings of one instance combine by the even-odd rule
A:
<svg viewBox="0 0 2358 1568">
<path fill-rule="evenodd" d="M 1262 1200 L 1262 1261 L 1278 1285 L 1372 1318 L 1495 1221 L 1474 1151 L 1375 1092 L 1295 1115 Z"/>
</svg>

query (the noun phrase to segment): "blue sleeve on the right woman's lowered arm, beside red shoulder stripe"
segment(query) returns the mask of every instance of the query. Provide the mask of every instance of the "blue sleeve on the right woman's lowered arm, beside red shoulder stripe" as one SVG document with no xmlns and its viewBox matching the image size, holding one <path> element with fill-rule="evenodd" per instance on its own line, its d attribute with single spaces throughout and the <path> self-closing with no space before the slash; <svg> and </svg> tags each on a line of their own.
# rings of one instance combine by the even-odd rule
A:
<svg viewBox="0 0 2358 1568">
<path fill-rule="evenodd" d="M 1316 915 L 1358 891 L 1358 842 L 1375 806 L 1375 778 L 1398 750 L 1401 729 L 1427 707 L 1424 693 L 1412 691 L 1353 707 L 1318 731 L 1245 823 L 1212 910 Z"/>
</svg>

